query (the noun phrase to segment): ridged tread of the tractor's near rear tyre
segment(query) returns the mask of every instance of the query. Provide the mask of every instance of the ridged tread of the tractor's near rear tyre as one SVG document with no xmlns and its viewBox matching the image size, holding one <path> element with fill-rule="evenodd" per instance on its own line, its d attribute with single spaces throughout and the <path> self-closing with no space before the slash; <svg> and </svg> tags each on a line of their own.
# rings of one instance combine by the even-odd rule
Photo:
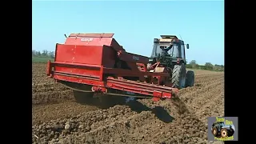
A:
<svg viewBox="0 0 256 144">
<path fill-rule="evenodd" d="M 175 88 L 182 88 L 180 86 L 180 77 L 182 76 L 182 69 L 185 69 L 186 72 L 186 67 L 184 64 L 182 65 L 175 65 L 174 69 L 173 69 L 173 73 L 172 73 L 172 77 L 171 77 L 171 82 L 173 84 L 173 87 Z"/>
</svg>

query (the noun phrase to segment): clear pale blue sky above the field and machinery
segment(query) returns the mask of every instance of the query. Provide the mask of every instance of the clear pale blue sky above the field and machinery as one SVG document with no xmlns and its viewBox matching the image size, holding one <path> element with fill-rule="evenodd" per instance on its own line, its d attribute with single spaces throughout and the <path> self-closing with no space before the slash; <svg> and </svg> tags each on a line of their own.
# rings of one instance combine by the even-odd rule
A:
<svg viewBox="0 0 256 144">
<path fill-rule="evenodd" d="M 175 34 L 186 59 L 224 64 L 224 1 L 34 1 L 32 46 L 54 51 L 64 34 L 109 32 L 126 49 L 150 56 L 153 39 Z"/>
</svg>

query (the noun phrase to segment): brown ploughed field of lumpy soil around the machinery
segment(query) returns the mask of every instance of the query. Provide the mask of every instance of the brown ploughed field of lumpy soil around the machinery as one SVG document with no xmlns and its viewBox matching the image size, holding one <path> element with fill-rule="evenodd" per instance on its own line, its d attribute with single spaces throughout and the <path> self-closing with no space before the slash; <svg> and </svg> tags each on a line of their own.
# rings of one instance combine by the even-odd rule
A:
<svg viewBox="0 0 256 144">
<path fill-rule="evenodd" d="M 194 70 L 179 98 L 141 99 L 105 110 L 74 102 L 73 93 L 32 63 L 34 143 L 207 143 L 207 117 L 224 116 L 224 73 Z"/>
</svg>

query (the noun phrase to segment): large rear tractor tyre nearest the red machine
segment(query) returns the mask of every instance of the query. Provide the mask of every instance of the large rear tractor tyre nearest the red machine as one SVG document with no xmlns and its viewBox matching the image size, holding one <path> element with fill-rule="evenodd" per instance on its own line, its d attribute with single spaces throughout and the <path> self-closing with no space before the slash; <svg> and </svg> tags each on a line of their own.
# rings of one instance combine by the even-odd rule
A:
<svg viewBox="0 0 256 144">
<path fill-rule="evenodd" d="M 186 66 L 183 63 L 182 65 L 174 66 L 171 83 L 173 87 L 178 89 L 182 89 L 186 86 Z"/>
</svg>

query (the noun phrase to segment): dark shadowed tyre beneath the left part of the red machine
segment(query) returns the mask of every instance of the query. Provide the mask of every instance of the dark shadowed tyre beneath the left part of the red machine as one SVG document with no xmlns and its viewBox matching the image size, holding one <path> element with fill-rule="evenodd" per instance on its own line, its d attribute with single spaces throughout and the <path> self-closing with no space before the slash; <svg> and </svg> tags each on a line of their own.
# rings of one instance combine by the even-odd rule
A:
<svg viewBox="0 0 256 144">
<path fill-rule="evenodd" d="M 81 104 L 91 104 L 93 102 L 93 92 L 82 92 L 73 90 L 74 99 L 76 102 Z"/>
</svg>

